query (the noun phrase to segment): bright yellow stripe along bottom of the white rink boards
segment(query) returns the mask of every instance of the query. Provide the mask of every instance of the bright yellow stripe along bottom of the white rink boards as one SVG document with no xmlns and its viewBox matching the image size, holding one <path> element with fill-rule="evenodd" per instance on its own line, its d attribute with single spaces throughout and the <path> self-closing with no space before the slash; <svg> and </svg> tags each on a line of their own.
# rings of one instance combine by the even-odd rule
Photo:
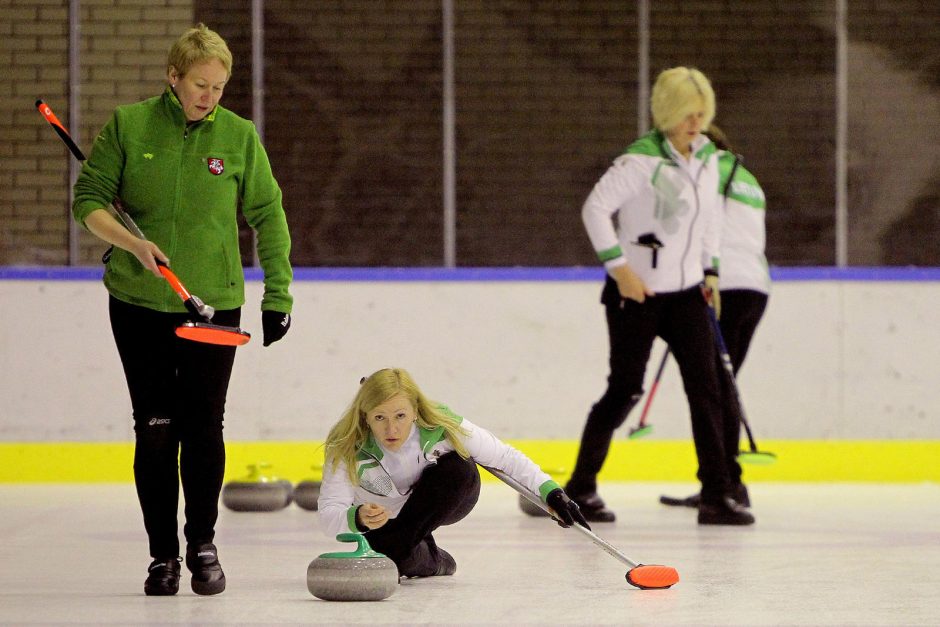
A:
<svg viewBox="0 0 940 627">
<path fill-rule="evenodd" d="M 578 443 L 511 440 L 542 468 L 564 481 Z M 777 460 L 742 464 L 748 482 L 870 481 L 940 483 L 940 440 L 807 441 L 767 440 L 761 450 Z M 319 478 L 322 442 L 229 442 L 225 480 L 248 474 L 248 465 L 268 463 L 268 474 L 291 481 Z M 133 481 L 134 445 L 129 442 L 0 443 L 2 483 L 96 483 Z M 695 450 L 685 440 L 614 441 L 601 481 L 694 481 Z M 485 480 L 495 480 L 484 473 Z"/>
</svg>

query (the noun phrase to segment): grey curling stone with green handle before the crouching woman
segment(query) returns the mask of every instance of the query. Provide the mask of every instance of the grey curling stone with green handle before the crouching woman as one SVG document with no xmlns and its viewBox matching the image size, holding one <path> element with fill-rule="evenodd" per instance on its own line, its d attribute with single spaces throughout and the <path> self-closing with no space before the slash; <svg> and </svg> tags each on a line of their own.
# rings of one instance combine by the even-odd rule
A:
<svg viewBox="0 0 940 627">
<path fill-rule="evenodd" d="M 307 590 L 324 601 L 381 601 L 398 589 L 398 567 L 376 553 L 361 533 L 341 533 L 356 542 L 351 553 L 324 553 L 307 567 Z"/>
</svg>

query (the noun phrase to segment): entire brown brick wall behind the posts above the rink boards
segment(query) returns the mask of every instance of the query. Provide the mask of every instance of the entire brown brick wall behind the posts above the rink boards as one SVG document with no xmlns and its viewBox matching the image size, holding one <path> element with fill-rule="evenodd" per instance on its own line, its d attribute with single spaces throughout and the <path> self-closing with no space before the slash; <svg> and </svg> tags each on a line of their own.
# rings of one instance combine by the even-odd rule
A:
<svg viewBox="0 0 940 627">
<path fill-rule="evenodd" d="M 718 121 L 768 195 L 770 261 L 833 263 L 834 2 L 650 4 L 651 73 L 695 65 L 712 79 Z M 849 4 L 849 261 L 940 264 L 940 3 Z M 81 6 L 83 145 L 116 104 L 162 88 L 166 49 L 193 21 L 228 40 L 223 104 L 250 116 L 249 0 Z M 636 134 L 634 6 L 455 9 L 458 264 L 594 264 L 578 212 Z M 0 0 L 0 15 L 13 79 L 0 263 L 63 263 L 67 158 L 32 102 L 41 92 L 67 118 L 67 1 Z M 265 143 L 295 264 L 442 262 L 440 20 L 439 0 L 267 0 Z M 83 262 L 101 248 L 83 237 Z"/>
</svg>

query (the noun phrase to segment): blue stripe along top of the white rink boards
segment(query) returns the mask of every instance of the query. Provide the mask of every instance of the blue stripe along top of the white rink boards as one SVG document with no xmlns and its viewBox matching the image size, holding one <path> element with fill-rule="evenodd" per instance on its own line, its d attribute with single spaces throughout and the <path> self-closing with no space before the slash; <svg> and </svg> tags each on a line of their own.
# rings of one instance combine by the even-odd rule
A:
<svg viewBox="0 0 940 627">
<path fill-rule="evenodd" d="M 0 281 L 99 281 L 100 266 L 0 266 Z M 938 282 L 940 267 L 771 267 L 774 281 Z M 260 281 L 260 268 L 245 268 L 245 278 Z M 500 268 L 294 268 L 297 281 L 335 282 L 500 282 L 500 281 L 601 281 L 600 267 L 500 267 Z M 185 283 L 185 278 L 183 278 Z"/>
</svg>

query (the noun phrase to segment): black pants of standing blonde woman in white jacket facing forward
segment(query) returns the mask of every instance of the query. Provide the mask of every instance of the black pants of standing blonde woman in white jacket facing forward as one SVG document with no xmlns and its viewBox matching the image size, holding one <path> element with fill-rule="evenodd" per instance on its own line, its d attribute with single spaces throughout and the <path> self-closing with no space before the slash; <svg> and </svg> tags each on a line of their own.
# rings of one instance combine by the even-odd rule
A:
<svg viewBox="0 0 940 627">
<path fill-rule="evenodd" d="M 572 496 L 597 490 L 614 431 L 643 395 L 643 377 L 657 336 L 672 349 L 692 417 L 702 498 L 715 501 L 741 481 L 737 461 L 739 416 L 728 377 L 719 376 L 718 351 L 698 287 L 660 294 L 644 303 L 620 297 L 607 279 L 601 302 L 607 314 L 610 375 L 607 390 L 591 408 L 575 469 L 567 485 Z"/>
</svg>

